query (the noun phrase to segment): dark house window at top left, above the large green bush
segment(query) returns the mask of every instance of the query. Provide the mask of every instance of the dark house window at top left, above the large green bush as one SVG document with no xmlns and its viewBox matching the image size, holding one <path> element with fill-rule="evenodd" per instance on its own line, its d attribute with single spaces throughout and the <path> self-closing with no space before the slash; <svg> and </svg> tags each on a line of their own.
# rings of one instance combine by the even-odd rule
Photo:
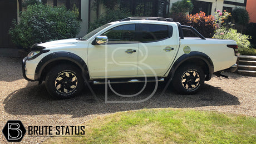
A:
<svg viewBox="0 0 256 144">
<path fill-rule="evenodd" d="M 78 8 L 79 16 L 81 18 L 81 0 L 42 0 L 44 4 L 50 6 L 66 6 L 67 9 L 73 10 L 73 8 Z"/>
</svg>

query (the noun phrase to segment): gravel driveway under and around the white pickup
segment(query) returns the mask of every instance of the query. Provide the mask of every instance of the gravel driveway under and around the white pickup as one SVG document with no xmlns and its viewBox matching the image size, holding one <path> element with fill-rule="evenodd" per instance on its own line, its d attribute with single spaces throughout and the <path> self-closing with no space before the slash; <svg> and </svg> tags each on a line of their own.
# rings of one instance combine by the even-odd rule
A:
<svg viewBox="0 0 256 144">
<path fill-rule="evenodd" d="M 141 103 L 105 103 L 105 85 L 93 85 L 99 99 L 85 88 L 81 96 L 71 100 L 51 100 L 44 85 L 22 77 L 21 58 L 0 57 L 0 129 L 8 120 L 21 120 L 25 127 L 79 125 L 99 115 L 142 108 L 194 108 L 256 116 L 256 77 L 225 73 L 229 78 L 213 77 L 202 90 L 191 96 L 177 95 L 171 88 L 163 95 L 165 83 L 159 83 L 155 94 Z M 123 95 L 137 93 L 144 84 L 120 84 L 112 87 Z M 149 83 L 137 97 L 119 97 L 108 89 L 108 101 L 138 101 L 149 97 L 155 83 Z M 40 143 L 47 137 L 24 136 L 21 143 Z M 6 142 L 2 135 L 0 143 Z"/>
</svg>

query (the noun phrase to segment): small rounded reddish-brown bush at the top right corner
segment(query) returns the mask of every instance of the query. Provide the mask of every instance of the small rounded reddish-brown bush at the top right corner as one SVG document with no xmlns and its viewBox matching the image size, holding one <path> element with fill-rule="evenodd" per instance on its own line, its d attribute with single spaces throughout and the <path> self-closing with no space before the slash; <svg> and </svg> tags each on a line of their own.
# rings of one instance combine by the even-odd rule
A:
<svg viewBox="0 0 256 144">
<path fill-rule="evenodd" d="M 235 8 L 232 11 L 235 23 L 245 25 L 249 22 L 249 14 L 244 8 Z"/>
</svg>

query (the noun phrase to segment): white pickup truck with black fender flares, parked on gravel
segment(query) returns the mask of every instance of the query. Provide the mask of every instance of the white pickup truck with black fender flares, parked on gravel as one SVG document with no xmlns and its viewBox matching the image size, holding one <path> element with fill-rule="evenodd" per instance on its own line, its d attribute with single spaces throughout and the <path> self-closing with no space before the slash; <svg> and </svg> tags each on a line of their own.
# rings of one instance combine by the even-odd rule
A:
<svg viewBox="0 0 256 144">
<path fill-rule="evenodd" d="M 185 37 L 191 31 L 198 37 Z M 45 81 L 53 98 L 71 98 L 88 84 L 171 82 L 179 93 L 199 90 L 211 75 L 237 69 L 237 43 L 204 38 L 170 18 L 129 17 L 82 38 L 34 44 L 23 77 Z"/>
</svg>

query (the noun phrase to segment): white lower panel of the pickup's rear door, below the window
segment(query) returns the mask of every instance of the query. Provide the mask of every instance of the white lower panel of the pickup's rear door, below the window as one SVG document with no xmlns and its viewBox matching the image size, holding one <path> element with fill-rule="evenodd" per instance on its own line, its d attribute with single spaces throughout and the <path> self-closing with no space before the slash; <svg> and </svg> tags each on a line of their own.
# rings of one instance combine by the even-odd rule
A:
<svg viewBox="0 0 256 144">
<path fill-rule="evenodd" d="M 174 48 L 174 50 L 166 52 L 164 51 L 166 47 Z M 158 42 L 140 43 L 138 75 L 163 76 L 173 61 L 178 47 L 176 37 Z"/>
</svg>

